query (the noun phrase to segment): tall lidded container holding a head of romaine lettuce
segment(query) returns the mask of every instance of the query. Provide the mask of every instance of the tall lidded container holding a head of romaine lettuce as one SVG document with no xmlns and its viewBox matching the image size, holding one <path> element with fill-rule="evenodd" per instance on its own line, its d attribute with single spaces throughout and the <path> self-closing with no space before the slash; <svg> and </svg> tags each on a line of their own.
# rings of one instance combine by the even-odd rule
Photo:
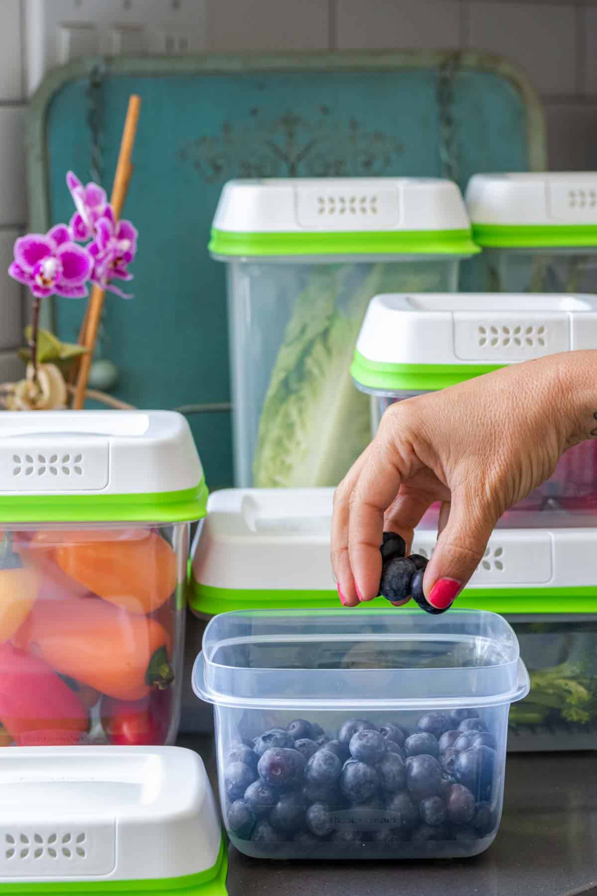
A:
<svg viewBox="0 0 597 896">
<path fill-rule="evenodd" d="M 209 251 L 226 262 L 235 484 L 336 486 L 369 441 L 348 369 L 369 300 L 454 291 L 479 251 L 433 178 L 232 181 Z"/>
</svg>

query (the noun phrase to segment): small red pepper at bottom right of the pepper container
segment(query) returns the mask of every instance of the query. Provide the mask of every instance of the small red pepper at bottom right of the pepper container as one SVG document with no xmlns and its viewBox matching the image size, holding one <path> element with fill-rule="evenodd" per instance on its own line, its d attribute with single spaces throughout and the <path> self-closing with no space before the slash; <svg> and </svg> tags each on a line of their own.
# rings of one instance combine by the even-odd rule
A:
<svg viewBox="0 0 597 896">
<path fill-rule="evenodd" d="M 101 722 L 109 744 L 160 746 L 170 725 L 169 692 L 155 691 L 142 700 L 114 700 L 104 696 Z"/>
</svg>

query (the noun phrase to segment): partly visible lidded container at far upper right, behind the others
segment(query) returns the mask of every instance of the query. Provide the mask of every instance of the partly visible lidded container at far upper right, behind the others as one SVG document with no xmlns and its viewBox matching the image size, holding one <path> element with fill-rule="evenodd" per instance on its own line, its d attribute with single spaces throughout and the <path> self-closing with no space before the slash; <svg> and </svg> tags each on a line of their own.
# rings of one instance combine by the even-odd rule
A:
<svg viewBox="0 0 597 896">
<path fill-rule="evenodd" d="M 490 289 L 597 292 L 597 173 L 478 174 L 465 198 Z"/>
</svg>

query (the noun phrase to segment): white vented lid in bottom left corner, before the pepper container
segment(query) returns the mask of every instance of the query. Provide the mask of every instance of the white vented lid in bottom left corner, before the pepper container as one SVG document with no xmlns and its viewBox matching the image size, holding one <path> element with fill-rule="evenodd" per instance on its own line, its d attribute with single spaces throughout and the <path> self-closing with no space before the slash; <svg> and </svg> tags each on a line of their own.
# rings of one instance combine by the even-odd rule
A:
<svg viewBox="0 0 597 896">
<path fill-rule="evenodd" d="M 0 789 L 0 885 L 215 883 L 221 828 L 191 750 L 8 747 Z"/>
</svg>

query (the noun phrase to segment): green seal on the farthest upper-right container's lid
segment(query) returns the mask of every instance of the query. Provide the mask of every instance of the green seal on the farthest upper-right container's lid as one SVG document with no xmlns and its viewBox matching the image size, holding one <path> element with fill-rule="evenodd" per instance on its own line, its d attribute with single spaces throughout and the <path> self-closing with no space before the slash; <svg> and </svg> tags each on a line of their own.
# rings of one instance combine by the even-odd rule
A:
<svg viewBox="0 0 597 896">
<path fill-rule="evenodd" d="M 597 249 L 597 225 L 473 223 L 473 239 L 487 249 Z"/>
</svg>

